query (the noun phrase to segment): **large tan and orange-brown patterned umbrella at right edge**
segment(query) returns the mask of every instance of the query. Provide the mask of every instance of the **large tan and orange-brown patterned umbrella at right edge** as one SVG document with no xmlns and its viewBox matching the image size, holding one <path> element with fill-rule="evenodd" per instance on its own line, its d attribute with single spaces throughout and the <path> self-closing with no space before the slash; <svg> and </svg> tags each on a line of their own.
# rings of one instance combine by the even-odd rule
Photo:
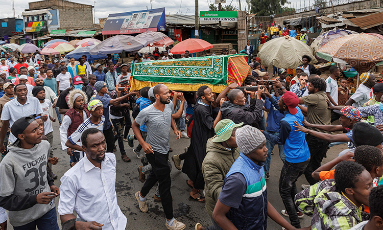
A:
<svg viewBox="0 0 383 230">
<path fill-rule="evenodd" d="M 317 51 L 317 56 L 327 61 L 339 58 L 349 63 L 359 73 L 367 72 L 377 62 L 383 61 L 383 39 L 371 34 L 350 34 L 333 39 Z"/>
</svg>

